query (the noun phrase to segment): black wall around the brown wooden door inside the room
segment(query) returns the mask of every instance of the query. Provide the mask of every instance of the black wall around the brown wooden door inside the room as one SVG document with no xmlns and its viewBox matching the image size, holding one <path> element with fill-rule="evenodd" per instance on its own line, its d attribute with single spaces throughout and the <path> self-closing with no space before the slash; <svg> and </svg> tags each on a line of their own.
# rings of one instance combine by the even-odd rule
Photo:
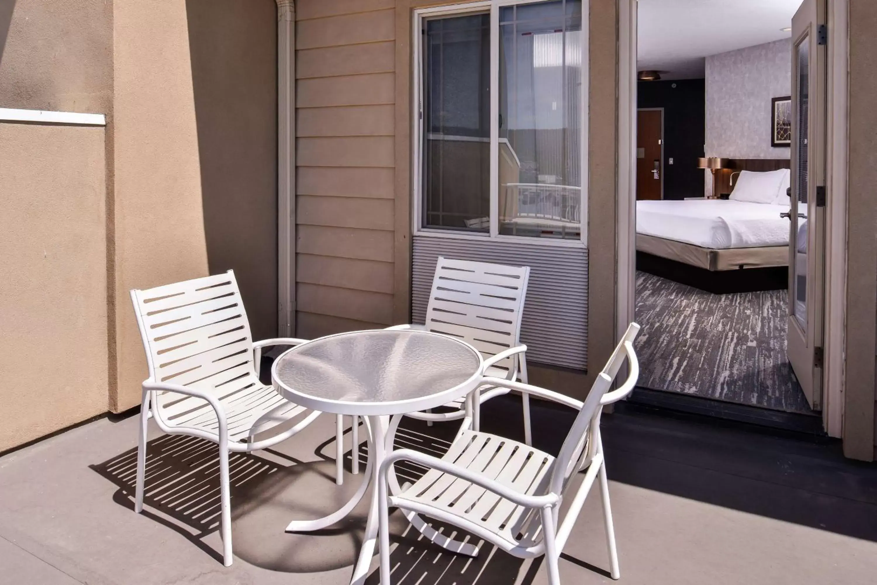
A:
<svg viewBox="0 0 877 585">
<path fill-rule="evenodd" d="M 664 108 L 665 199 L 703 196 L 704 87 L 702 79 L 637 83 L 638 108 Z"/>
</svg>

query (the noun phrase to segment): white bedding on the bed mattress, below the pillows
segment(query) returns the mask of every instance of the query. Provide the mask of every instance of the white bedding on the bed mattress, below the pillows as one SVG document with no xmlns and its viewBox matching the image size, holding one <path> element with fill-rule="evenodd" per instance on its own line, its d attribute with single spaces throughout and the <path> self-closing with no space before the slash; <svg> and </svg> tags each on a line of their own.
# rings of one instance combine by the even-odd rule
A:
<svg viewBox="0 0 877 585">
<path fill-rule="evenodd" d="M 637 233 L 705 248 L 788 246 L 788 205 L 726 199 L 638 201 Z"/>
</svg>

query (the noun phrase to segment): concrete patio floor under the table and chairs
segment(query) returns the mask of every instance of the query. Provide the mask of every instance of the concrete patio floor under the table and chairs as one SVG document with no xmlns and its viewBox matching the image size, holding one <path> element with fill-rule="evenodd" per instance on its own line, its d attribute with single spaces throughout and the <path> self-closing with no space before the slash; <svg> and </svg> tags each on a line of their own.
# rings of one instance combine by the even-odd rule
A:
<svg viewBox="0 0 877 585">
<path fill-rule="evenodd" d="M 484 430 L 517 433 L 519 406 L 497 399 Z M 534 408 L 537 446 L 556 449 L 567 412 Z M 0 583 L 346 583 L 367 503 L 317 534 L 293 518 L 331 511 L 360 476 L 333 482 L 333 417 L 270 453 L 232 456 L 233 546 L 216 531 L 216 447 L 150 433 L 146 510 L 132 511 L 136 417 L 104 418 L 0 458 Z M 453 426 L 412 421 L 404 440 L 440 450 Z M 361 435 L 364 437 L 364 433 Z M 836 444 L 624 409 L 603 419 L 621 583 L 873 583 L 877 467 Z M 349 470 L 349 433 L 347 460 Z M 394 515 L 394 583 L 546 582 L 541 562 L 483 549 L 475 560 L 418 541 Z M 376 561 L 376 557 L 374 559 Z M 373 567 L 376 562 L 373 563 Z M 560 561 L 569 584 L 612 582 L 595 491 Z M 376 571 L 369 577 L 377 582 Z"/>
</svg>

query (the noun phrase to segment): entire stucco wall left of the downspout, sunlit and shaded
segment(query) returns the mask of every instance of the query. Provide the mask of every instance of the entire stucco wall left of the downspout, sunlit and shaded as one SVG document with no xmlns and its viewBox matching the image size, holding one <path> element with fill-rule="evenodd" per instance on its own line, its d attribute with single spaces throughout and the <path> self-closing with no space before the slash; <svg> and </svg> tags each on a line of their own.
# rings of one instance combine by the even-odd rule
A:
<svg viewBox="0 0 877 585">
<path fill-rule="evenodd" d="M 52 246 L 75 255 L 56 261 L 54 281 L 32 254 L 4 266 L 11 275 L 0 282 L 4 322 L 7 311 L 17 320 L 0 332 L 0 348 L 24 344 L 32 356 L 18 369 L 3 364 L 0 399 L 13 407 L 0 417 L 16 425 L 0 421 L 12 433 L 0 436 L 0 451 L 139 403 L 146 364 L 129 289 L 233 268 L 254 334 L 275 335 L 275 31 L 274 0 L 0 2 L 0 107 L 107 118 L 106 128 L 4 127 L 16 134 L 0 140 L 2 220 L 31 228 L 49 259 Z M 40 147 L 40 164 L 30 164 Z M 52 157 L 61 161 L 52 165 Z M 65 229 L 55 241 L 27 222 L 53 221 L 50 195 L 59 194 L 72 207 L 57 207 Z M 10 197 L 28 205 L 7 206 Z M 83 217 L 98 203 L 99 214 Z M 76 243 L 86 229 L 88 241 Z M 4 255 L 14 256 L 15 239 L 6 236 Z M 88 290 L 72 291 L 88 306 L 70 305 L 70 291 L 52 286 L 68 284 L 74 272 L 87 277 Z M 67 313 L 100 335 L 59 317 Z M 77 351 L 53 353 L 48 332 L 57 346 L 75 339 Z M 73 357 L 90 377 L 70 365 Z M 71 370 L 58 387 L 64 399 L 32 408 L 40 395 L 30 392 L 31 402 L 9 402 L 9 379 L 23 367 L 36 374 L 43 360 Z"/>
</svg>

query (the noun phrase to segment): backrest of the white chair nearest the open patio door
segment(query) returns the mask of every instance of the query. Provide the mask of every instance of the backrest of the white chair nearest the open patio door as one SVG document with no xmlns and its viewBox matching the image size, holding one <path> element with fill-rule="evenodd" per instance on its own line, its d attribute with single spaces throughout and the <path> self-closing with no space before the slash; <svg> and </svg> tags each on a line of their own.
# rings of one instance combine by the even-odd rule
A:
<svg viewBox="0 0 877 585">
<path fill-rule="evenodd" d="M 619 399 L 607 400 L 607 398 L 611 398 L 613 395 L 627 396 L 636 385 L 639 377 L 639 364 L 637 354 L 633 351 L 633 339 L 637 337 L 638 332 L 639 325 L 631 323 L 621 341 L 618 342 L 615 351 L 612 352 L 610 360 L 603 367 L 602 372 L 597 375 L 594 385 L 591 386 L 591 391 L 585 398 L 585 403 L 579 414 L 575 417 L 573 426 L 567 433 L 567 438 L 564 439 L 563 446 L 560 447 L 560 453 L 555 460 L 552 478 L 549 482 L 551 492 L 563 493 L 569 478 L 596 453 L 597 441 L 589 440 L 594 437 L 593 433 L 590 432 L 592 425 L 599 424 L 603 405 Z M 627 379 L 617 390 L 610 393 L 612 382 L 625 360 L 628 366 Z"/>
</svg>

